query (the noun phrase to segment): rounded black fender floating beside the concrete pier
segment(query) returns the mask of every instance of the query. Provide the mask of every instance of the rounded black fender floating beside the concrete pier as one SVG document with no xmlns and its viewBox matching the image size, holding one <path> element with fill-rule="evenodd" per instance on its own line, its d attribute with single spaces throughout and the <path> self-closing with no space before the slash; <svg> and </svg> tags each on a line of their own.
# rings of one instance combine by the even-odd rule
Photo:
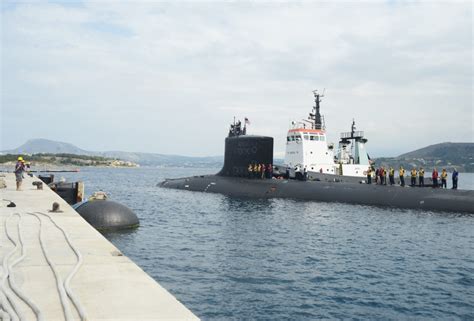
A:
<svg viewBox="0 0 474 321">
<path fill-rule="evenodd" d="M 114 201 L 87 201 L 77 204 L 74 208 L 97 230 L 133 228 L 140 224 L 131 209 Z"/>
</svg>

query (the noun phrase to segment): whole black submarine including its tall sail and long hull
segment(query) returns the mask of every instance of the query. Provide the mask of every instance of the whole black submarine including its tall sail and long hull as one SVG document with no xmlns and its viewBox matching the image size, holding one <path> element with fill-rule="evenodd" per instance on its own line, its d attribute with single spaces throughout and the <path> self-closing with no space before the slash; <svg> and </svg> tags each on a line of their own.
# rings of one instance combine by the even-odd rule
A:
<svg viewBox="0 0 474 321">
<path fill-rule="evenodd" d="M 305 179 L 302 175 L 293 178 L 277 170 L 263 178 L 249 174 L 250 164 L 273 164 L 273 138 L 247 135 L 246 126 L 242 128 L 240 121 L 234 121 L 225 139 L 224 165 L 217 174 L 165 179 L 158 186 L 238 198 L 286 198 L 474 214 L 471 190 L 365 184 L 359 179 Z"/>
</svg>

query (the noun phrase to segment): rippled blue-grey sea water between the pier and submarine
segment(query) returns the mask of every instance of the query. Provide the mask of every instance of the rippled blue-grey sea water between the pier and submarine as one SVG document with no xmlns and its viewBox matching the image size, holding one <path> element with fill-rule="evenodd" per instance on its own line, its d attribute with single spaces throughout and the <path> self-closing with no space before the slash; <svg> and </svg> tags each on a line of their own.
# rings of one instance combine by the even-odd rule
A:
<svg viewBox="0 0 474 321">
<path fill-rule="evenodd" d="M 140 218 L 106 233 L 203 320 L 474 320 L 474 215 L 163 189 L 218 169 L 56 174 Z M 474 189 L 474 175 L 460 187 Z"/>
</svg>

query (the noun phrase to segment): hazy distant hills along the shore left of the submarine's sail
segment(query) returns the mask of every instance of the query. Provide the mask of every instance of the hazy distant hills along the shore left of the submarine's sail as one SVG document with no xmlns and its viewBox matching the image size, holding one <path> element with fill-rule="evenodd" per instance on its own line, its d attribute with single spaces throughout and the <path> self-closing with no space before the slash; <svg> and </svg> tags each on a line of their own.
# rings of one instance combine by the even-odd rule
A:
<svg viewBox="0 0 474 321">
<path fill-rule="evenodd" d="M 69 143 L 48 139 L 30 139 L 25 144 L 12 150 L 2 151 L 3 154 L 74 154 L 87 156 L 100 156 L 105 158 L 120 159 L 144 166 L 179 166 L 179 167 L 219 167 L 224 158 L 215 157 L 187 157 L 178 155 L 163 155 L 155 153 L 132 153 L 121 151 L 93 152 L 81 149 Z"/>
</svg>

